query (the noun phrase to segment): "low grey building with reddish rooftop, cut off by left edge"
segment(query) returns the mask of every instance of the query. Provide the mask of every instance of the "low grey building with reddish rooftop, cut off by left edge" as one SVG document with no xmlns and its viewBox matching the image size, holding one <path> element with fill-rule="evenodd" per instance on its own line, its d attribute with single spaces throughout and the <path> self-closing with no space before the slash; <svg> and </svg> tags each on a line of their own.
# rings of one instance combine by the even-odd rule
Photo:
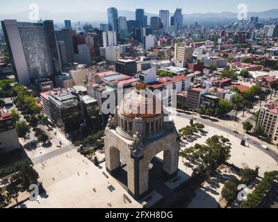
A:
<svg viewBox="0 0 278 222">
<path fill-rule="evenodd" d="M 12 117 L 0 109 L 0 153 L 9 153 L 20 147 Z"/>
</svg>

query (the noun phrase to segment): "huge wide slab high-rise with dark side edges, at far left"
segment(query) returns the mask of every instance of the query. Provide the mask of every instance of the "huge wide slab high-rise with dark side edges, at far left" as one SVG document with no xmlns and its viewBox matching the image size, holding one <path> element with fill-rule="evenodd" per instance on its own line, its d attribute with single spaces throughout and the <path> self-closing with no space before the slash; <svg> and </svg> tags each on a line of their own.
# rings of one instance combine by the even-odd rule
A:
<svg viewBox="0 0 278 222">
<path fill-rule="evenodd" d="M 60 72 L 53 21 L 4 20 L 1 25 L 19 84 L 30 85 L 35 79 L 52 78 Z"/>
</svg>

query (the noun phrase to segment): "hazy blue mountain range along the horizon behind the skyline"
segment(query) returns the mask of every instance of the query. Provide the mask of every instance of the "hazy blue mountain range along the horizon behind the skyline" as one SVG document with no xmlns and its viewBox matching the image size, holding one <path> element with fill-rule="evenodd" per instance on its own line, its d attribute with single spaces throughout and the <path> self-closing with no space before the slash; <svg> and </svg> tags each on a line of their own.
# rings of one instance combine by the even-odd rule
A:
<svg viewBox="0 0 278 222">
<path fill-rule="evenodd" d="M 19 12 L 17 14 L 0 15 L 0 19 L 17 19 L 18 21 L 28 22 L 28 10 Z M 119 16 L 125 16 L 126 19 L 135 19 L 135 12 L 129 10 L 119 10 Z M 148 19 L 156 14 L 147 13 Z M 171 14 L 172 15 L 172 14 Z M 267 10 L 264 12 L 248 12 L 248 17 L 258 16 L 259 19 L 265 20 L 270 17 L 278 17 L 278 9 Z M 71 19 L 73 22 L 107 22 L 106 12 L 97 11 L 83 11 L 83 12 L 48 12 L 40 10 L 41 19 L 53 19 L 55 22 L 63 22 L 64 19 Z M 215 22 L 232 22 L 237 19 L 237 14 L 234 12 L 221 12 L 221 13 L 192 13 L 184 14 L 183 20 L 188 23 L 200 22 L 202 23 L 215 23 Z"/>
</svg>

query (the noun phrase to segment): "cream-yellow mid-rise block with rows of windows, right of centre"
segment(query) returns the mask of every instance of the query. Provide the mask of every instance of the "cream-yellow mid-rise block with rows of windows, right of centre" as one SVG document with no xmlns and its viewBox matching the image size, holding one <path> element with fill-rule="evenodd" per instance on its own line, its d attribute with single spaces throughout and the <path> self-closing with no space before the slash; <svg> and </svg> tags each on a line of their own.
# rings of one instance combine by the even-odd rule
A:
<svg viewBox="0 0 278 222">
<path fill-rule="evenodd" d="M 180 62 L 193 62 L 193 47 L 186 46 L 185 43 L 174 44 L 174 59 Z"/>
</svg>

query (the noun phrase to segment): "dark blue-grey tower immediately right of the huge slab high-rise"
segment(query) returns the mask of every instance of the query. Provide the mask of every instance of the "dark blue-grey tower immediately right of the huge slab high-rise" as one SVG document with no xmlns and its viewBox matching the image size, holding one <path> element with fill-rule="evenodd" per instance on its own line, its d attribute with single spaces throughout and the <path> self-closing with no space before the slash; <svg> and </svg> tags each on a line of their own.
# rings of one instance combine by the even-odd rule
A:
<svg viewBox="0 0 278 222">
<path fill-rule="evenodd" d="M 65 42 L 65 49 L 67 51 L 67 62 L 74 62 L 74 44 L 72 42 L 72 31 L 68 28 L 55 31 L 56 40 Z"/>
</svg>

